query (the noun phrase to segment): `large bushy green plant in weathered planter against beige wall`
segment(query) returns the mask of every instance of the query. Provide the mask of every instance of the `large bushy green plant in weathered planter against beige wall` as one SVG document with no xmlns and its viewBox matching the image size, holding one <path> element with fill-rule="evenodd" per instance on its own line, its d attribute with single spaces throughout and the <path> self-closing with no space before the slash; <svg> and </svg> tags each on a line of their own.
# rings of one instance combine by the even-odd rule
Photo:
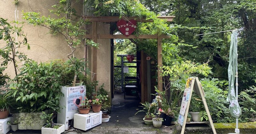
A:
<svg viewBox="0 0 256 134">
<path fill-rule="evenodd" d="M 60 70 L 53 67 L 52 62 L 40 63 L 26 60 L 20 68 L 20 73 L 10 83 L 8 94 L 11 95 L 19 108 L 19 129 L 40 130 L 46 122 L 39 116 L 42 111 L 59 112 Z"/>
</svg>

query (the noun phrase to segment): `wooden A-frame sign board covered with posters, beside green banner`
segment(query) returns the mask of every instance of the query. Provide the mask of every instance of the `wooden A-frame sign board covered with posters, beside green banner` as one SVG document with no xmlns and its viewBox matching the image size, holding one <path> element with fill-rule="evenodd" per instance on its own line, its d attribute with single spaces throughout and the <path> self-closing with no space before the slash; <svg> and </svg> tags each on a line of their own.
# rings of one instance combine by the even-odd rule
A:
<svg viewBox="0 0 256 134">
<path fill-rule="evenodd" d="M 202 102 L 204 104 L 205 111 L 207 113 L 210 125 L 212 127 L 212 132 L 214 134 L 216 134 L 216 131 L 215 131 L 215 128 L 214 128 L 213 122 L 212 122 L 212 117 L 211 117 L 211 114 L 209 112 L 208 106 L 207 106 L 205 98 L 204 98 L 203 87 L 197 77 L 189 77 L 188 78 L 186 87 L 185 87 L 185 90 L 184 90 L 184 93 L 182 96 L 182 102 L 181 102 L 181 106 L 180 106 L 180 114 L 179 114 L 179 118 L 178 118 L 178 123 L 182 126 L 181 134 L 184 134 L 184 131 L 185 131 L 185 126 L 186 126 L 186 121 L 187 121 L 187 116 L 188 116 L 188 109 L 189 109 L 190 100 L 191 100 L 193 91 L 202 98 Z"/>
</svg>

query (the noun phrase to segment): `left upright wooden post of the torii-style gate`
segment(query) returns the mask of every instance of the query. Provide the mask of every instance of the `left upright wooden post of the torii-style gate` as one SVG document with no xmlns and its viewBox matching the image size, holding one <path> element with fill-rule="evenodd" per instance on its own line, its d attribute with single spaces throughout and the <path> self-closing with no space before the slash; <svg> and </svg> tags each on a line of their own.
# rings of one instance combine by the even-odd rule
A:
<svg viewBox="0 0 256 134">
<path fill-rule="evenodd" d="M 97 22 L 92 22 L 92 39 L 97 43 Z M 92 80 L 97 81 L 97 48 L 92 47 Z"/>
</svg>

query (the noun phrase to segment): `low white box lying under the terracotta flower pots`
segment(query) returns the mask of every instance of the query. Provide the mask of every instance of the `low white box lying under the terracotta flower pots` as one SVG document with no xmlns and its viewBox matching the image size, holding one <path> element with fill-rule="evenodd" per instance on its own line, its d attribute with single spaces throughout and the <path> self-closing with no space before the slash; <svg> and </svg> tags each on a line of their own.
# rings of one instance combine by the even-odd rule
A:
<svg viewBox="0 0 256 134">
<path fill-rule="evenodd" d="M 74 114 L 74 128 L 89 130 L 102 123 L 102 111 L 99 113 Z"/>
</svg>

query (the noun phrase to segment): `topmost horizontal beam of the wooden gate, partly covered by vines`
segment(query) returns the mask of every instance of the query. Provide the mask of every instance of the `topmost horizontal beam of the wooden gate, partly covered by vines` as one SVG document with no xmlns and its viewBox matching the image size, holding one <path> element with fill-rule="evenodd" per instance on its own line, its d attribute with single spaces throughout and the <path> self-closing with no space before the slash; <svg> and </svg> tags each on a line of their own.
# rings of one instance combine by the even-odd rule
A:
<svg viewBox="0 0 256 134">
<path fill-rule="evenodd" d="M 167 22 L 172 22 L 175 16 L 159 16 L 159 19 L 166 19 Z M 97 22 L 117 22 L 120 20 L 119 16 L 83 16 L 85 20 Z M 146 18 L 139 17 L 122 17 L 126 21 L 137 20 L 137 22 L 153 22 L 153 20 L 146 20 Z"/>
</svg>

